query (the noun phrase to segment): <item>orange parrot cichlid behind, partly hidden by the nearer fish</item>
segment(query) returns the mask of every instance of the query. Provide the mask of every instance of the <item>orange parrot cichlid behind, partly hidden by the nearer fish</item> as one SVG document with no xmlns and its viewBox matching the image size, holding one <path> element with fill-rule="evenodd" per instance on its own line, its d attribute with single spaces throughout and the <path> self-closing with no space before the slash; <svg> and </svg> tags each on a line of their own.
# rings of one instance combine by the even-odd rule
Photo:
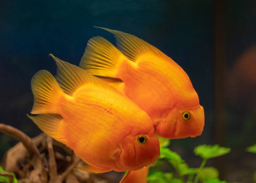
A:
<svg viewBox="0 0 256 183">
<path fill-rule="evenodd" d="M 136 36 L 114 34 L 117 48 L 103 37 L 89 40 L 80 68 L 102 77 L 151 117 L 156 133 L 168 139 L 201 135 L 204 108 L 185 71 Z"/>
</svg>

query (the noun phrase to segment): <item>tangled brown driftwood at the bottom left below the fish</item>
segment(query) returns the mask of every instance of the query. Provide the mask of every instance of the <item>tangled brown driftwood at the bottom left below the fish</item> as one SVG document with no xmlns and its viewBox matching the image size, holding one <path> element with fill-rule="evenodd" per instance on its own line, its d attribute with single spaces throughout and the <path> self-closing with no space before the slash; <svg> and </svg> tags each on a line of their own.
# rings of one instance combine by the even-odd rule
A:
<svg viewBox="0 0 256 183">
<path fill-rule="evenodd" d="M 75 166 L 84 162 L 65 145 L 45 133 L 31 139 L 20 130 L 0 123 L 0 131 L 20 140 L 9 149 L 1 165 L 5 171 L 14 172 L 20 183 L 107 183 L 111 179 L 104 174 L 77 171 Z M 2 174 L 0 174 L 2 175 Z M 12 182 L 9 174 L 10 182 Z"/>
</svg>

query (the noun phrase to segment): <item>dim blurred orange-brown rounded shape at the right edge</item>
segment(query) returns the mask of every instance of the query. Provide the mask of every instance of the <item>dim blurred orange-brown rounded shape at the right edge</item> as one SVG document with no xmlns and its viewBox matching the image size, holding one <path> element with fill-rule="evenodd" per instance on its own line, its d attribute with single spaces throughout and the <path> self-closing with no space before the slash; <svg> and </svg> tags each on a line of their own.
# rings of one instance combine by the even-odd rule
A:
<svg viewBox="0 0 256 183">
<path fill-rule="evenodd" d="M 226 75 L 226 97 L 239 110 L 256 112 L 256 46 L 244 51 Z"/>
</svg>

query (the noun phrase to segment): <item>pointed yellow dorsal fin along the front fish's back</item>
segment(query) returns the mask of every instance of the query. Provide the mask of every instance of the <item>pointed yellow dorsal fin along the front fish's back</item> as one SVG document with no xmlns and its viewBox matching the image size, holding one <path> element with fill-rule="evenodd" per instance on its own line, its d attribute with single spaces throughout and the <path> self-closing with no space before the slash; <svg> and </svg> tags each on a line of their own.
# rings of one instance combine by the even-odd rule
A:
<svg viewBox="0 0 256 183">
<path fill-rule="evenodd" d="M 101 79 L 92 76 L 85 70 L 68 62 L 64 62 L 57 57 L 54 57 L 52 54 L 50 54 L 50 56 L 52 56 L 57 64 L 56 79 L 59 82 L 60 87 L 63 89 L 63 91 L 68 95 L 72 96 L 74 92 L 76 92 L 80 87 L 83 87 L 86 84 L 92 84 L 94 87 L 104 88 L 108 91 L 122 95 L 114 87 L 110 86 Z"/>
</svg>

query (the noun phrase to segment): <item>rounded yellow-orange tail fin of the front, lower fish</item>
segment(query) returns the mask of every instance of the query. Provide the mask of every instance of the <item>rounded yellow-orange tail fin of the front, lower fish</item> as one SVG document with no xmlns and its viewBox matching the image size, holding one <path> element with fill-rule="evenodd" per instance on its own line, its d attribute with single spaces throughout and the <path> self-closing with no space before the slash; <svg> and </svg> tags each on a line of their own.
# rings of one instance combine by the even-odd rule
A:
<svg viewBox="0 0 256 183">
<path fill-rule="evenodd" d="M 31 80 L 31 88 L 34 94 L 32 114 L 57 113 L 57 105 L 64 92 L 51 73 L 38 71 Z"/>
</svg>

